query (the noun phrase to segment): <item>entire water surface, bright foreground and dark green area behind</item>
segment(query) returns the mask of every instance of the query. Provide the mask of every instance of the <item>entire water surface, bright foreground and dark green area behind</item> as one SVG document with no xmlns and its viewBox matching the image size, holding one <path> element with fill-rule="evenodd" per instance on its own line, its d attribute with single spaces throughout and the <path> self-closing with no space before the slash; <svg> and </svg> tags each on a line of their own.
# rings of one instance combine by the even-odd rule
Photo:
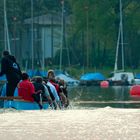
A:
<svg viewBox="0 0 140 140">
<path fill-rule="evenodd" d="M 138 140 L 139 101 L 130 87 L 69 89 L 66 110 L 0 110 L 1 140 Z"/>
</svg>

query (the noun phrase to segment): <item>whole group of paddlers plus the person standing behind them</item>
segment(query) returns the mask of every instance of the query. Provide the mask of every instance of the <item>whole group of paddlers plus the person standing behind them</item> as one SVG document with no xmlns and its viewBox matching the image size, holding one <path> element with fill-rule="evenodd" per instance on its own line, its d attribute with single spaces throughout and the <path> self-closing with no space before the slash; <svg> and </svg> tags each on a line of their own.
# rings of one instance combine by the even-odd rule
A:
<svg viewBox="0 0 140 140">
<path fill-rule="evenodd" d="M 66 83 L 56 79 L 53 70 L 49 70 L 46 77 L 35 76 L 30 79 L 26 72 L 21 72 L 15 57 L 4 51 L 0 76 L 4 74 L 7 83 L 2 95 L 20 96 L 25 101 L 37 102 L 40 109 L 43 108 L 43 102 L 48 102 L 53 109 L 69 105 Z"/>
</svg>

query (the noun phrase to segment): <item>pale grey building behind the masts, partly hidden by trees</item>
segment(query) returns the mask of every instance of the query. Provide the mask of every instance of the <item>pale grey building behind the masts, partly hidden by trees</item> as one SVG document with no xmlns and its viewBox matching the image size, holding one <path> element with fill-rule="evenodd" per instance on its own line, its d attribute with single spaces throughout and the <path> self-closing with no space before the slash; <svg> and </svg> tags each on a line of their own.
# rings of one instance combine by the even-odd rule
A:
<svg viewBox="0 0 140 140">
<path fill-rule="evenodd" d="M 65 40 L 65 25 L 70 24 L 70 20 L 68 18 L 62 20 L 61 14 L 47 14 L 24 21 L 26 30 L 22 34 L 21 55 L 18 56 L 20 58 L 22 56 L 24 67 L 31 67 L 32 34 L 34 65 L 43 67 L 44 63 L 48 64 L 55 57 L 57 51 L 60 51 L 62 46 L 62 21 L 64 23 L 63 40 Z"/>
</svg>

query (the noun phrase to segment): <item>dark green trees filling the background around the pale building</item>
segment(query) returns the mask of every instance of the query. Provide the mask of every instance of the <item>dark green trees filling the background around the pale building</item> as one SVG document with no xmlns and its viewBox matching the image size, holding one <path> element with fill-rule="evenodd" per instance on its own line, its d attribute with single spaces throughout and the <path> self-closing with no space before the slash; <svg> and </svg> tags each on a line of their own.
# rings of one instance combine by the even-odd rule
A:
<svg viewBox="0 0 140 140">
<path fill-rule="evenodd" d="M 0 51 L 4 48 L 4 14 L 0 1 Z M 62 0 L 33 0 L 34 17 L 48 12 L 61 12 Z M 122 0 L 125 66 L 138 68 L 140 64 L 140 2 Z M 24 32 L 24 20 L 31 17 L 31 0 L 6 1 L 8 27 L 11 36 Z M 119 31 L 119 0 L 64 0 L 68 34 L 64 43 L 69 48 L 70 64 L 85 67 L 113 67 Z M 65 50 L 63 50 L 65 51 Z M 58 54 L 59 55 L 59 54 Z M 63 53 L 63 57 L 66 53 Z M 55 61 L 55 59 L 54 59 Z M 55 62 L 54 62 L 55 63 Z M 68 62 L 63 60 L 63 64 Z"/>
</svg>

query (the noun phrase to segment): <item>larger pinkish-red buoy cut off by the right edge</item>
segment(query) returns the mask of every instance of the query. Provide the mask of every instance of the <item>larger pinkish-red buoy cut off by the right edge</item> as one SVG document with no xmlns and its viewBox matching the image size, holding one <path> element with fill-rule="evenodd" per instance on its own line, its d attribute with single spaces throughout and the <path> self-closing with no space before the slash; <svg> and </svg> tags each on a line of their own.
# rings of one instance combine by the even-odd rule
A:
<svg viewBox="0 0 140 140">
<path fill-rule="evenodd" d="M 130 95 L 140 97 L 140 85 L 134 85 L 130 88 Z"/>
</svg>

